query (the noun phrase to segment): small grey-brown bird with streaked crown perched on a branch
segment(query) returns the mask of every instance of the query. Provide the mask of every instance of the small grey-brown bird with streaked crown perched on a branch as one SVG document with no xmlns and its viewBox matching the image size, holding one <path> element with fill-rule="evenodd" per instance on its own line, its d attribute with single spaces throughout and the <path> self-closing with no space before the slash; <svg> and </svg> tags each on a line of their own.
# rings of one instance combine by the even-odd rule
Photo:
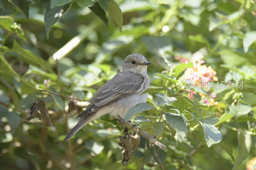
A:
<svg viewBox="0 0 256 170">
<path fill-rule="evenodd" d="M 149 88 L 149 64 L 151 62 L 141 54 L 128 55 L 121 70 L 88 100 L 89 106 L 76 117 L 80 117 L 80 120 L 63 141 L 70 139 L 84 125 L 105 114 L 109 114 L 113 119 L 122 120 L 129 109 L 138 103 L 146 102 L 148 93 L 141 93 Z"/>
</svg>

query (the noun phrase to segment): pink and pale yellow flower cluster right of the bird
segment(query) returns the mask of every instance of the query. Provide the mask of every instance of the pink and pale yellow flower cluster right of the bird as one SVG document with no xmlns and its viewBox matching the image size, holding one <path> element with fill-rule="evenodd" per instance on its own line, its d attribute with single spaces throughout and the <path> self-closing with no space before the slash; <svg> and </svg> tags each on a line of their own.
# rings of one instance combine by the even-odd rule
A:
<svg viewBox="0 0 256 170">
<path fill-rule="evenodd" d="M 212 69 L 211 66 L 207 67 L 204 64 L 203 60 L 198 61 L 192 61 L 193 62 L 193 68 L 188 68 L 185 70 L 185 78 L 188 80 L 191 80 L 194 82 L 194 85 L 200 85 L 203 87 L 203 89 L 206 91 L 208 89 L 208 82 L 209 81 L 217 81 L 218 78 L 215 76 L 216 71 Z M 204 64 L 204 65 L 202 65 Z M 208 91 L 210 93 L 210 90 Z M 190 90 L 190 93 L 188 94 L 189 98 L 193 98 L 194 94 L 196 92 Z M 202 93 L 199 93 L 201 98 L 204 100 L 204 103 L 210 106 L 218 105 L 219 103 L 214 101 L 214 98 L 216 98 L 216 94 L 211 94 L 211 96 L 205 96 Z"/>
</svg>

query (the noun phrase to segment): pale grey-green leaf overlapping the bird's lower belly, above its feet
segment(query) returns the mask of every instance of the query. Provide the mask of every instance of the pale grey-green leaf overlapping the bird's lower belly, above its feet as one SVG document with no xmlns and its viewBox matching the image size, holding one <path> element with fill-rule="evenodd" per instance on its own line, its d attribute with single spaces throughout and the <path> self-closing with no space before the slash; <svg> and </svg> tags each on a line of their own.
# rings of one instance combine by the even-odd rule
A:
<svg viewBox="0 0 256 170">
<path fill-rule="evenodd" d="M 152 108 L 154 108 L 154 106 L 150 106 L 148 103 L 139 103 L 128 110 L 124 117 L 124 121 L 127 122 L 132 118 L 132 116 Z"/>
</svg>

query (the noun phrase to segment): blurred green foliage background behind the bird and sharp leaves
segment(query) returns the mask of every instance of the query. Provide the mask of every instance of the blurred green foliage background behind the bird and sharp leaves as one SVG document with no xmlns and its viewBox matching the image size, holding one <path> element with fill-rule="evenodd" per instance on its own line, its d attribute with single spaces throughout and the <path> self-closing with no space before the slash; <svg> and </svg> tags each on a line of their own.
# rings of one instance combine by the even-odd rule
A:
<svg viewBox="0 0 256 170">
<path fill-rule="evenodd" d="M 132 53 L 140 53 L 152 62 L 148 66 L 150 87 L 166 85 L 164 79 L 153 75 L 180 64 L 180 58 L 204 60 L 217 72 L 219 81 L 244 81 L 243 90 L 215 92 L 217 106 L 205 105 L 198 94 L 195 96 L 199 108 L 212 115 L 211 121 L 218 122 L 225 114 L 235 115 L 217 125 L 227 147 L 214 144 L 209 148 L 203 130 L 193 126 L 188 126 L 190 135 L 183 141 L 166 130 L 158 139 L 166 150 L 155 147 L 165 169 L 246 169 L 246 163 L 255 156 L 255 1 L 116 0 L 123 13 L 120 32 L 115 15 L 102 5 L 108 1 L 99 1 L 107 13 L 107 27 L 86 7 L 92 1 L 73 0 L 67 13 L 59 14 L 61 19 L 52 26 L 49 39 L 44 13 L 50 1 L 18 2 L 23 6 L 32 3 L 29 19 L 18 6 L 0 1 L 0 15 L 11 16 L 23 29 L 6 39 L 11 30 L 6 29 L 4 18 L 0 19 L 0 169 L 161 169 L 154 150 L 143 137 L 132 161 L 121 166 L 118 135 L 123 133 L 109 123 L 103 125 L 100 119 L 63 142 L 82 111 L 69 99 L 43 92 L 43 100 L 50 100 L 47 107 L 53 126 L 45 127 L 38 117 L 25 120 L 36 91 L 28 86 L 87 100 Z M 84 8 L 77 5 L 82 2 Z M 39 92 L 36 98 L 41 100 Z M 240 100 L 250 106 L 248 114 L 237 115 L 230 109 Z M 148 102 L 154 101 L 155 95 L 149 94 Z M 153 122 L 160 116 L 148 112 L 140 115 Z M 251 169 L 254 164 L 255 160 L 250 163 Z"/>
</svg>

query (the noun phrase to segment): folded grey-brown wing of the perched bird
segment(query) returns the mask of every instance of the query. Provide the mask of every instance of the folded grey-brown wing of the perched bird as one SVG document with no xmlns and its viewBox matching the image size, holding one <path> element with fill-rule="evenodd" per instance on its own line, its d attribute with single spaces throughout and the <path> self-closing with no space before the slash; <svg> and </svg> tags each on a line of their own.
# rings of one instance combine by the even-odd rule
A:
<svg viewBox="0 0 256 170">
<path fill-rule="evenodd" d="M 121 76 L 121 77 L 120 77 Z M 116 75 L 114 78 L 109 80 L 105 88 L 99 89 L 101 92 L 98 94 L 94 101 L 91 102 L 83 113 L 77 117 L 83 117 L 87 114 L 94 113 L 99 109 L 108 106 L 117 100 L 123 99 L 134 92 L 140 91 L 140 87 L 143 84 L 144 78 L 138 74 L 129 75 Z M 103 85 L 104 86 L 104 85 Z"/>
</svg>

